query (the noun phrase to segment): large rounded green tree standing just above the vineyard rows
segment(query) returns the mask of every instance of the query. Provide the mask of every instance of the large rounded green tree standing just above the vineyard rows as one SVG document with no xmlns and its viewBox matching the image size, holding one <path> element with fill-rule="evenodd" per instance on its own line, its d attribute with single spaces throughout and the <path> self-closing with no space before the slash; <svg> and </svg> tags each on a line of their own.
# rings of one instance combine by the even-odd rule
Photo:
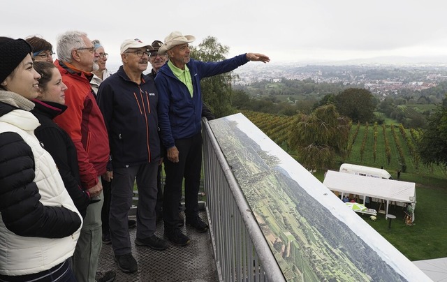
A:
<svg viewBox="0 0 447 282">
<path fill-rule="evenodd" d="M 339 114 L 349 117 L 353 122 L 365 123 L 374 119 L 376 99 L 367 89 L 349 88 L 335 96 Z"/>
</svg>

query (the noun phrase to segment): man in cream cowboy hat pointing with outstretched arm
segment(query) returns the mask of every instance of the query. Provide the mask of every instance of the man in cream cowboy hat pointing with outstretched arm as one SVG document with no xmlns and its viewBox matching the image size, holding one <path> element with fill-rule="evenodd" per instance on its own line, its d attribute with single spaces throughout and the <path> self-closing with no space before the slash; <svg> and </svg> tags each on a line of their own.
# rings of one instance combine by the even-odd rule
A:
<svg viewBox="0 0 447 282">
<path fill-rule="evenodd" d="M 195 61 L 189 45 L 196 38 L 174 31 L 165 38 L 159 54 L 168 54 L 155 81 L 159 91 L 159 126 L 166 148 L 166 184 L 163 195 L 164 235 L 173 244 L 185 246 L 189 238 L 178 227 L 178 200 L 184 179 L 186 225 L 207 232 L 208 225 L 198 215 L 198 190 L 202 168 L 202 94 L 204 77 L 233 71 L 248 61 L 270 61 L 264 54 L 247 53 L 220 62 Z"/>
</svg>

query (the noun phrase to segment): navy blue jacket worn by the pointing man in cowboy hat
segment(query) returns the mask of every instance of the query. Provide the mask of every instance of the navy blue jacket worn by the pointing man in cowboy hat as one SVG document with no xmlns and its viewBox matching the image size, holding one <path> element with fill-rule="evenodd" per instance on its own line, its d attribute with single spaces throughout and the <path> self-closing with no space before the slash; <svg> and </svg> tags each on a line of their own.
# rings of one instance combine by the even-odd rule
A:
<svg viewBox="0 0 447 282">
<path fill-rule="evenodd" d="M 162 66 L 155 77 L 159 91 L 159 126 L 161 140 L 166 149 L 175 146 L 176 139 L 190 138 L 202 129 L 202 94 L 200 80 L 204 77 L 233 71 L 247 64 L 247 54 L 219 62 L 203 62 L 190 59 L 186 64 L 193 82 L 193 97 L 188 87 L 170 70 L 168 64 Z"/>
</svg>

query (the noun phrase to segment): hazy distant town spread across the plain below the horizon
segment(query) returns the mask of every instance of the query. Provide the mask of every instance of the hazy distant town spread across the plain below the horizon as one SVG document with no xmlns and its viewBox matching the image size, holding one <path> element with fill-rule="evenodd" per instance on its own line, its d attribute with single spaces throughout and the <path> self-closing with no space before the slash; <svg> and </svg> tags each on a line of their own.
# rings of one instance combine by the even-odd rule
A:
<svg viewBox="0 0 447 282">
<path fill-rule="evenodd" d="M 420 91 L 436 87 L 447 80 L 447 66 L 413 65 L 393 66 L 365 65 L 297 65 L 297 64 L 247 64 L 237 68 L 235 85 L 249 85 L 267 80 L 312 80 L 315 83 L 342 83 L 353 87 L 364 87 L 373 94 L 387 96 L 402 89 Z"/>
</svg>

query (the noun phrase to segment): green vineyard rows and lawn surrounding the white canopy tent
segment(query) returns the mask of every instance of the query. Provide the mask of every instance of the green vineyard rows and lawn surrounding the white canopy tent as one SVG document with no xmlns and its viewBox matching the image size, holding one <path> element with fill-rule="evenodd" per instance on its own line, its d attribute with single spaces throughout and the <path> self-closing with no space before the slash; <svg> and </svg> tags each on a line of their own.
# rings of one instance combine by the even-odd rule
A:
<svg viewBox="0 0 447 282">
<path fill-rule="evenodd" d="M 299 157 L 294 156 L 287 147 L 293 117 L 242 113 L 299 162 Z M 404 211 L 398 206 L 390 207 L 390 214 L 397 216 L 391 229 L 388 229 L 388 221 L 382 214 L 374 222 L 364 216 L 369 225 L 409 260 L 427 260 L 447 255 L 447 205 L 444 203 L 447 199 L 447 172 L 444 167 L 427 167 L 420 162 L 415 151 L 415 141 L 419 135 L 419 131 L 404 128 L 395 122 L 384 126 L 353 124 L 349 137 L 349 156 L 344 161 L 341 158 L 336 160 L 337 166 L 331 168 L 338 170 L 343 162 L 375 168 L 383 166 L 393 178 L 397 179 L 397 170 L 401 170 L 400 180 L 416 183 L 417 203 L 413 225 L 404 223 Z M 318 170 L 314 175 L 323 181 L 324 172 Z"/>
</svg>

